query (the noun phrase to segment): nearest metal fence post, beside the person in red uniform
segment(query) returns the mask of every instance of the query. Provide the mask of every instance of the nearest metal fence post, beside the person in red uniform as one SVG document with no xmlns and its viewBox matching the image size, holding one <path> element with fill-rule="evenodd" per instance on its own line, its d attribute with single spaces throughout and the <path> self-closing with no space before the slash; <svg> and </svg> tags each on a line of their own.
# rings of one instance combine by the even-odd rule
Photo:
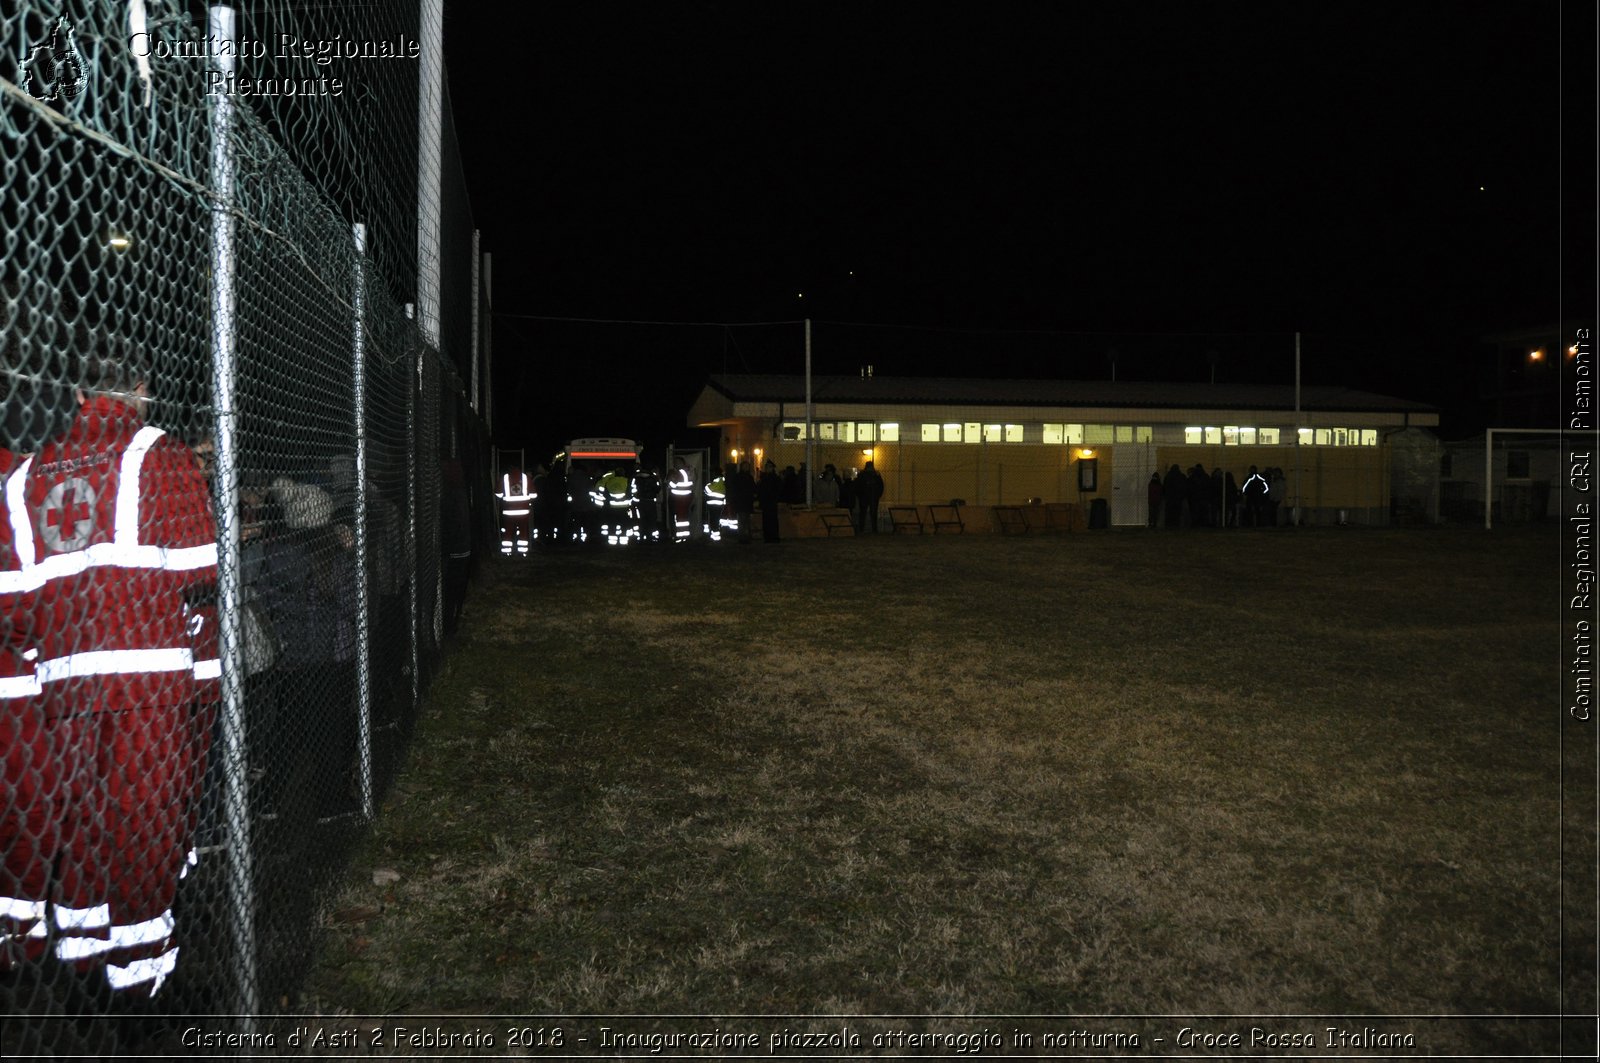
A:
<svg viewBox="0 0 1600 1063">
<path fill-rule="evenodd" d="M 237 38 L 234 8 L 208 11 L 213 42 Z M 232 74 L 230 48 L 218 50 L 218 69 Z M 218 632 L 222 661 L 222 815 L 227 823 L 227 897 L 232 906 L 229 927 L 234 935 L 237 1007 L 242 1029 L 250 1031 L 256 1007 L 254 872 L 250 839 L 250 794 L 246 781 L 246 735 L 243 690 L 243 610 L 240 608 L 238 538 L 238 443 L 237 443 L 237 355 L 234 344 L 234 101 L 226 93 L 211 99 L 211 386 L 216 432 L 216 540 L 218 540 Z"/>
</svg>

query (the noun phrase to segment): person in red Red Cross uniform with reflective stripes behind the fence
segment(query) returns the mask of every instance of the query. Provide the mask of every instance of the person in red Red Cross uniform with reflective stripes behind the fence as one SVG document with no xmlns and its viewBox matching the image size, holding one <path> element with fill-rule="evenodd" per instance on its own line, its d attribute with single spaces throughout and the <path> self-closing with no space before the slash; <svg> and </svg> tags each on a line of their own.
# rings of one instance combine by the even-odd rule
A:
<svg viewBox="0 0 1600 1063">
<path fill-rule="evenodd" d="M 146 365 L 102 344 L 72 426 L 6 479 L 0 511 L 0 610 L 26 666 L 0 700 L 0 953 L 48 945 L 138 996 L 178 962 L 208 743 L 195 708 L 221 674 L 211 493 L 195 455 L 144 424 Z"/>
</svg>

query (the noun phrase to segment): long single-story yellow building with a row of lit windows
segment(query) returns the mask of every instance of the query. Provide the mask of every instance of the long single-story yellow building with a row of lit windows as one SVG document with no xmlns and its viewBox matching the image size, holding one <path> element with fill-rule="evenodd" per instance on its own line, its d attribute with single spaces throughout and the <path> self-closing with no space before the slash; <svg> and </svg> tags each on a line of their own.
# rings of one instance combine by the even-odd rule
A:
<svg viewBox="0 0 1600 1063">
<path fill-rule="evenodd" d="M 808 442 L 811 469 L 870 459 L 885 506 L 1074 503 L 1138 525 L 1152 474 L 1275 466 L 1307 522 L 1438 519 L 1438 410 L 1349 387 L 1301 389 L 1296 416 L 1286 384 L 814 376 L 808 419 L 802 375 L 714 375 L 688 424 L 755 469 L 800 467 Z"/>
</svg>

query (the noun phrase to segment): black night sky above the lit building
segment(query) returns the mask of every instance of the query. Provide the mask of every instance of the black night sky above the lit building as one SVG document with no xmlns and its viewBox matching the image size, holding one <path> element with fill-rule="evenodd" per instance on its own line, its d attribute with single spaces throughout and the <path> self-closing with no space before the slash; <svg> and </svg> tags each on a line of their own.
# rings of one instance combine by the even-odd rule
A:
<svg viewBox="0 0 1600 1063">
<path fill-rule="evenodd" d="M 1477 336 L 1592 307 L 1592 3 L 446 5 L 445 34 L 506 445 L 690 442 L 707 371 L 803 365 L 798 327 L 550 317 L 813 317 L 819 373 L 1256 383 L 1301 330 L 1306 383 L 1448 413 Z"/>
</svg>

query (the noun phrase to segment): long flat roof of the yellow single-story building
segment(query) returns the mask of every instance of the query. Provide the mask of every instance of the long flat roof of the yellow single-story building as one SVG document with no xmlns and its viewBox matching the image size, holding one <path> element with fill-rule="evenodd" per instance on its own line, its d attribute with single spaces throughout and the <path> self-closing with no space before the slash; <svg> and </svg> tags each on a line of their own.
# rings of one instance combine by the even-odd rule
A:
<svg viewBox="0 0 1600 1063">
<path fill-rule="evenodd" d="M 805 402 L 805 376 L 714 373 L 707 387 L 731 402 Z M 1293 410 L 1293 384 L 1163 384 L 1154 381 L 981 379 L 968 376 L 813 376 L 813 402 Z M 1301 410 L 1437 413 L 1408 399 L 1354 387 L 1301 387 Z"/>
</svg>

